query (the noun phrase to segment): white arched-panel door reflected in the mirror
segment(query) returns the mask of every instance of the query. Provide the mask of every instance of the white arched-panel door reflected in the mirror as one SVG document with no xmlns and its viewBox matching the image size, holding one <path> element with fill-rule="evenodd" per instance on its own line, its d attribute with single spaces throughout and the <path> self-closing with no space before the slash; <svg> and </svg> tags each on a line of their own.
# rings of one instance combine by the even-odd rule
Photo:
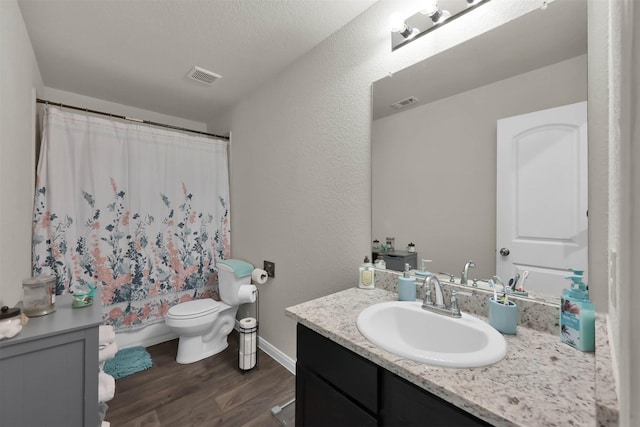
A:
<svg viewBox="0 0 640 427">
<path fill-rule="evenodd" d="M 587 268 L 587 103 L 498 120 L 497 166 L 496 272 L 560 296 Z"/>
</svg>

